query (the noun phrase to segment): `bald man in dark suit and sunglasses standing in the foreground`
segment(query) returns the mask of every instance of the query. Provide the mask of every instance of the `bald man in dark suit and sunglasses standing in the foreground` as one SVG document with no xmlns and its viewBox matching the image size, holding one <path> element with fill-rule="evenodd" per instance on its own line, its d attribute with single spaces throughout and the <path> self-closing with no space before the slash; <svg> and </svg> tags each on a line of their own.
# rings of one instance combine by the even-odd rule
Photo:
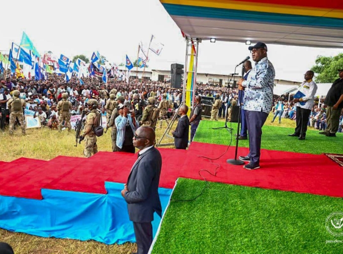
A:
<svg viewBox="0 0 343 254">
<path fill-rule="evenodd" d="M 147 254 L 153 242 L 154 212 L 162 217 L 162 206 L 158 193 L 162 157 L 154 147 L 155 131 L 152 127 L 138 128 L 133 137 L 133 145 L 140 152 L 133 165 L 127 184 L 121 191 L 127 202 L 130 220 L 138 247 L 137 254 Z"/>
</svg>

